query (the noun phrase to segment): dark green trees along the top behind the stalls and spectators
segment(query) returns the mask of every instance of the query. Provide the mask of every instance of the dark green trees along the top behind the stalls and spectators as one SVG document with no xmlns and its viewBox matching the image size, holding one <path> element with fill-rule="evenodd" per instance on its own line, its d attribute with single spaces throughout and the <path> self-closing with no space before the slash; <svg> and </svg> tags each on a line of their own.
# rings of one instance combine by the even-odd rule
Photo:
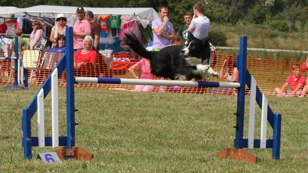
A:
<svg viewBox="0 0 308 173">
<path fill-rule="evenodd" d="M 236 25 L 266 25 L 283 32 L 305 32 L 308 27 L 308 0 L 0 0 L 1 6 L 25 8 L 40 4 L 87 7 L 169 8 L 175 30 L 184 24 L 183 14 L 192 12 L 195 2 L 204 3 L 204 13 L 211 22 Z"/>
</svg>

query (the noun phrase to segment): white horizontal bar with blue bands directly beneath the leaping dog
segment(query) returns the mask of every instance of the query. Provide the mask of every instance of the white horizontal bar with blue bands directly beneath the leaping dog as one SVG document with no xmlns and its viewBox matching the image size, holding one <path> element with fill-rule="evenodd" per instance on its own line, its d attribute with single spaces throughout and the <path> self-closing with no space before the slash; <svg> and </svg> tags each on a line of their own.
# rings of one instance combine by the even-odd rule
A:
<svg viewBox="0 0 308 173">
<path fill-rule="evenodd" d="M 76 83 L 105 83 L 126 85 L 162 85 L 162 86 L 190 86 L 190 87 L 215 87 L 215 88 L 239 88 L 237 82 L 198 82 L 181 80 L 153 80 L 153 79 L 124 79 L 103 77 L 75 77 Z"/>
</svg>

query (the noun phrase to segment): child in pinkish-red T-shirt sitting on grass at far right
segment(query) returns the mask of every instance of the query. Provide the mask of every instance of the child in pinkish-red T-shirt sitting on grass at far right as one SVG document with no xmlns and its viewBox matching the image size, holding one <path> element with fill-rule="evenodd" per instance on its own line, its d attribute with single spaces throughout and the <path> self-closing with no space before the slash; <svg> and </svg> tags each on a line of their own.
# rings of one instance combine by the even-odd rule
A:
<svg viewBox="0 0 308 173">
<path fill-rule="evenodd" d="M 302 70 L 300 65 L 293 65 L 293 74 L 287 77 L 286 82 L 281 88 L 275 88 L 275 92 L 278 97 L 293 97 L 300 96 L 302 94 L 302 89 L 305 85 L 305 77 L 302 76 Z M 291 86 L 291 90 L 287 90 L 288 85 Z"/>
</svg>

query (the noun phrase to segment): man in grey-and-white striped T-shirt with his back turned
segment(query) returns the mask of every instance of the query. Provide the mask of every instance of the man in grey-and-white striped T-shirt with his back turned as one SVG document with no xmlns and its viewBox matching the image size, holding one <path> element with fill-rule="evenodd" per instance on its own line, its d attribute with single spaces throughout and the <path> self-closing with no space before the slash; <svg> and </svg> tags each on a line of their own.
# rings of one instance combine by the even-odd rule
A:
<svg viewBox="0 0 308 173">
<path fill-rule="evenodd" d="M 203 4 L 197 2 L 193 5 L 192 23 L 188 27 L 188 31 L 198 39 L 207 37 L 210 30 L 210 19 L 203 14 Z"/>
</svg>

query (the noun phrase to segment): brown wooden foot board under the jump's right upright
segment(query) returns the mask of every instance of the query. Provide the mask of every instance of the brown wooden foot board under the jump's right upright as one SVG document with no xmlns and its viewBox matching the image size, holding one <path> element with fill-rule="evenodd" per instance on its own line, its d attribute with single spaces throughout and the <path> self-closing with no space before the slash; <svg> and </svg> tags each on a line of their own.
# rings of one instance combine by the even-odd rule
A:
<svg viewBox="0 0 308 173">
<path fill-rule="evenodd" d="M 229 158 L 239 162 L 256 164 L 258 157 L 244 149 L 227 148 L 217 153 L 218 158 Z"/>
</svg>

